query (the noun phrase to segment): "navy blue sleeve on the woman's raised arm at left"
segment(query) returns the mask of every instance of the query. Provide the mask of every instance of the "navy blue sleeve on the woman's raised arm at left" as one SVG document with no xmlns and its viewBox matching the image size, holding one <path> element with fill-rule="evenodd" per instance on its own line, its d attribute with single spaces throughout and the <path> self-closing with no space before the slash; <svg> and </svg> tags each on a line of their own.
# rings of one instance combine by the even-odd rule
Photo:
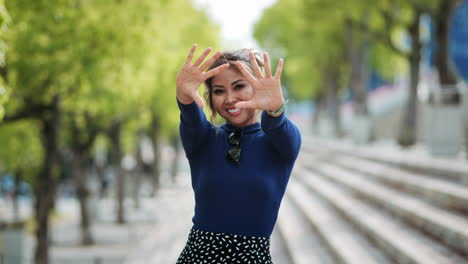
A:
<svg viewBox="0 0 468 264">
<path fill-rule="evenodd" d="M 195 153 L 208 138 L 212 125 L 205 113 L 195 103 L 184 105 L 177 100 L 180 109 L 179 133 L 187 157 Z"/>
</svg>

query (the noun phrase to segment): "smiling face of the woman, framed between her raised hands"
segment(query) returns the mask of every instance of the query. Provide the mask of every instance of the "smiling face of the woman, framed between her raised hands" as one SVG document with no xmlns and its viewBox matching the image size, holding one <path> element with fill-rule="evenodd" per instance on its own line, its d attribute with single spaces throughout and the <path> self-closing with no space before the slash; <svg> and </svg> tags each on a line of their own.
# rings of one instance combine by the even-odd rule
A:
<svg viewBox="0 0 468 264">
<path fill-rule="evenodd" d="M 255 109 L 234 107 L 237 102 L 249 101 L 254 96 L 253 87 L 235 66 L 215 75 L 211 87 L 213 106 L 228 124 L 245 127 L 257 122 Z"/>
</svg>

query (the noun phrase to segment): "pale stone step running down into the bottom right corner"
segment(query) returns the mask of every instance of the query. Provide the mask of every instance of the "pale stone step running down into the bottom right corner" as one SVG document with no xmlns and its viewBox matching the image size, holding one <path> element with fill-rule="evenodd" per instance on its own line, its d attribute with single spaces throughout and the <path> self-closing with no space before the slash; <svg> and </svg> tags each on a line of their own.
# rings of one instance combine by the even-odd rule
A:
<svg viewBox="0 0 468 264">
<path fill-rule="evenodd" d="M 351 224 L 363 232 L 376 246 L 397 263 L 467 263 L 450 249 L 413 229 L 407 223 L 354 197 L 347 189 L 323 176 L 296 164 L 310 192 L 320 195 L 340 212 Z"/>
</svg>

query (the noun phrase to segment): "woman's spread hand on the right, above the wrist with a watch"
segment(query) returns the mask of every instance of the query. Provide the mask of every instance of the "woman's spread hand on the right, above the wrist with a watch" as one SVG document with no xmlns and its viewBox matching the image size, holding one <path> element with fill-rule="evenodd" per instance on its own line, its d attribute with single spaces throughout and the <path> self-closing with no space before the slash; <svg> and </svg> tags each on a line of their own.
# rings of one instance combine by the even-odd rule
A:
<svg viewBox="0 0 468 264">
<path fill-rule="evenodd" d="M 281 91 L 280 80 L 281 72 L 283 70 L 283 59 L 279 60 L 275 76 L 272 76 L 270 58 L 268 53 L 265 52 L 263 54 L 263 60 L 265 62 L 265 76 L 263 76 L 252 51 L 249 52 L 249 56 L 255 76 L 247 71 L 242 63 L 237 62 L 236 66 L 254 88 L 255 95 L 250 101 L 236 103 L 235 107 L 270 111 L 278 110 L 283 104 L 283 93 Z"/>
</svg>

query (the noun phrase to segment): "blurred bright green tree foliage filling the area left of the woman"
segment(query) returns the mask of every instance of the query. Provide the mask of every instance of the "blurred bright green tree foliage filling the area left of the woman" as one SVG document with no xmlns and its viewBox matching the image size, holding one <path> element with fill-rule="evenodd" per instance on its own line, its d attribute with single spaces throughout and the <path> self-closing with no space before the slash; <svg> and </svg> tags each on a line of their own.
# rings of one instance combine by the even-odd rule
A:
<svg viewBox="0 0 468 264">
<path fill-rule="evenodd" d="M 163 136 L 178 133 L 176 73 L 193 43 L 218 48 L 220 42 L 218 26 L 189 0 L 15 0 L 7 8 L 9 84 L 8 90 L 0 86 L 0 105 L 8 92 L 7 117 L 25 112 L 22 119 L 37 120 L 47 112 L 25 110 L 60 95 L 62 147 L 120 121 L 123 149 L 133 151 L 135 132 L 152 116 L 161 121 Z M 1 125 L 2 146 L 18 133 L 10 128 L 15 125 Z M 40 147 L 39 135 L 23 136 Z M 98 139 L 99 148 L 109 142 Z M 4 150 L 25 155 L 16 147 Z M 9 169 L 18 164 L 0 160 Z"/>
</svg>

